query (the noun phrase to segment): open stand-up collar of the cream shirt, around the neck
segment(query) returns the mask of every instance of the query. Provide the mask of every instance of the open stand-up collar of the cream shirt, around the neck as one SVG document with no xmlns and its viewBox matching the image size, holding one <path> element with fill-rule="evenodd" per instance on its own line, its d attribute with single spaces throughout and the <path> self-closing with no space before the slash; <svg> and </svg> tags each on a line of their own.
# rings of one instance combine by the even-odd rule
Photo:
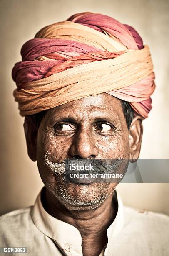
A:
<svg viewBox="0 0 169 256">
<path fill-rule="evenodd" d="M 41 202 L 41 194 L 44 188 L 45 187 L 42 187 L 40 193 L 37 195 L 35 204 L 31 210 L 33 223 L 42 233 L 57 242 L 65 242 L 75 246 L 80 246 L 82 244 L 82 237 L 79 230 L 62 220 L 54 218 L 45 211 Z M 122 230 L 124 225 L 124 209 L 122 200 L 116 191 L 115 200 L 118 205 L 118 210 L 113 223 L 107 229 L 108 244 L 112 237 L 116 236 Z"/>
</svg>

